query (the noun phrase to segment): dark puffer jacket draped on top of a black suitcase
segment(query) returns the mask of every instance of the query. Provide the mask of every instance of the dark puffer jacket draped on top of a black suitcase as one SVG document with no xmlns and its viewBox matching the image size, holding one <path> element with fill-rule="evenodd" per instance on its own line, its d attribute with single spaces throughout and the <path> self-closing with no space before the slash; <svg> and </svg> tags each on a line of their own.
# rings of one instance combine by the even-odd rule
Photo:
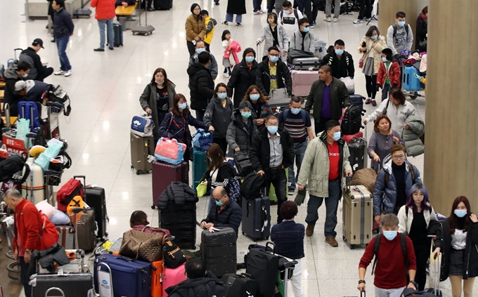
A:
<svg viewBox="0 0 478 297">
<path fill-rule="evenodd" d="M 176 205 L 184 205 L 186 203 L 197 203 L 198 196 L 190 186 L 181 182 L 173 182 L 167 186 L 166 190 L 161 193 L 157 199 L 157 208 L 166 209 L 167 204 L 174 203 Z"/>
</svg>

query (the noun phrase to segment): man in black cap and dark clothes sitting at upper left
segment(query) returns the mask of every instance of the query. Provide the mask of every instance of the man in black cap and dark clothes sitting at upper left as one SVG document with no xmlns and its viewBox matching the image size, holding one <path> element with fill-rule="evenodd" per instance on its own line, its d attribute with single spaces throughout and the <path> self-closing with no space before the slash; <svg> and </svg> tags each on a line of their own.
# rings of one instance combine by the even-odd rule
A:
<svg viewBox="0 0 478 297">
<path fill-rule="evenodd" d="M 37 38 L 33 41 L 32 45 L 27 47 L 20 53 L 20 62 L 27 62 L 30 65 L 30 73 L 27 79 L 34 79 L 36 81 L 43 81 L 46 77 L 49 77 L 53 73 L 52 67 L 46 67 L 41 63 L 38 52 L 43 47 L 43 40 Z"/>
</svg>

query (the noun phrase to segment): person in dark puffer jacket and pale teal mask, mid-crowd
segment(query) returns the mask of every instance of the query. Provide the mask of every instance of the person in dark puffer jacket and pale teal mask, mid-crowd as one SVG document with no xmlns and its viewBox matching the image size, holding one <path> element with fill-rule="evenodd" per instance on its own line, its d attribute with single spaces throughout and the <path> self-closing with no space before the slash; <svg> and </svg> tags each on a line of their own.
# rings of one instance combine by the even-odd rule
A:
<svg viewBox="0 0 478 297">
<path fill-rule="evenodd" d="M 226 140 L 229 145 L 229 155 L 240 150 L 249 154 L 252 137 L 257 133 L 257 124 L 251 117 L 252 105 L 249 101 L 241 101 L 239 108 L 233 112 L 231 124 L 227 129 Z"/>
</svg>

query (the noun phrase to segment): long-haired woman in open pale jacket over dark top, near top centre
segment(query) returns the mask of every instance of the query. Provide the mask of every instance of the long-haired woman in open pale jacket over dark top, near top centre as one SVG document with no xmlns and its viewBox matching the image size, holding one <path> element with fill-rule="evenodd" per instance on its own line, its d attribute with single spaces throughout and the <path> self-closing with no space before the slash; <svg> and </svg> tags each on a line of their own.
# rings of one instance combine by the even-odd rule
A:
<svg viewBox="0 0 478 297">
<path fill-rule="evenodd" d="M 266 57 L 269 54 L 268 48 L 277 46 L 280 50 L 283 61 L 287 60 L 287 53 L 289 51 L 289 37 L 283 25 L 277 23 L 277 14 L 267 14 L 267 25 L 262 28 L 261 34 L 257 39 L 257 45 L 264 42 L 262 56 Z M 259 52 L 257 53 L 259 55 Z"/>
</svg>

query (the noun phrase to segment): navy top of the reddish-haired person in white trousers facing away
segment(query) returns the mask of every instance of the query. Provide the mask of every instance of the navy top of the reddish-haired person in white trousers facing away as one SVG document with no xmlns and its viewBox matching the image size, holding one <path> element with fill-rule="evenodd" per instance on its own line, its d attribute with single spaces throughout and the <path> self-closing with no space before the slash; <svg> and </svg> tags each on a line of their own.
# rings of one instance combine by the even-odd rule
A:
<svg viewBox="0 0 478 297">
<path fill-rule="evenodd" d="M 276 245 L 275 253 L 291 259 L 304 258 L 304 235 L 304 225 L 293 220 L 273 225 L 271 240 Z"/>
</svg>

